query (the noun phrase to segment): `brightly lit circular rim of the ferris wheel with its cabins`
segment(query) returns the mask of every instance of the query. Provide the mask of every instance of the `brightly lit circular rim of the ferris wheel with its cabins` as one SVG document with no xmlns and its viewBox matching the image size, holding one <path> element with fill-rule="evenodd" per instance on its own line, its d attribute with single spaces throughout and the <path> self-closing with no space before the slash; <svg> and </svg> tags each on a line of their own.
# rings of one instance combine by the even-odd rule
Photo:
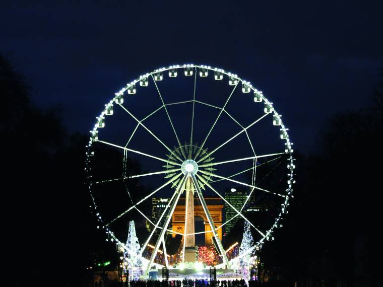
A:
<svg viewBox="0 0 383 287">
<path fill-rule="evenodd" d="M 137 83 L 140 83 L 140 85 L 141 85 L 141 82 L 142 81 L 145 81 L 145 79 L 148 79 L 149 77 L 151 77 L 152 79 L 153 79 L 153 82 L 155 83 L 155 85 L 156 85 L 156 88 L 157 88 L 157 90 L 158 90 L 158 87 L 157 87 L 157 84 L 156 84 L 156 80 L 155 80 L 155 75 L 158 75 L 159 73 L 163 73 L 163 72 L 165 72 L 165 71 L 171 71 L 171 70 L 178 70 L 178 69 L 185 69 L 185 68 L 192 68 L 192 69 L 194 69 L 194 71 L 195 71 L 195 77 L 197 77 L 197 68 L 198 69 L 200 69 L 200 73 L 201 73 L 201 70 L 207 70 L 207 71 L 214 71 L 214 73 L 216 73 L 216 74 L 218 74 L 218 75 L 225 75 L 225 76 L 228 76 L 229 77 L 229 79 L 230 79 L 230 77 L 232 78 L 232 79 L 234 79 L 235 81 L 236 81 L 236 85 L 235 85 L 235 87 L 237 87 L 237 85 L 239 85 L 240 83 L 241 83 L 241 85 L 242 85 L 242 89 L 243 89 L 243 87 L 246 87 L 246 89 L 250 89 L 251 91 L 253 91 L 253 93 L 254 93 L 254 95 L 259 95 L 261 98 L 262 98 L 262 100 L 267 104 L 267 105 L 269 105 L 269 107 L 271 108 L 271 113 L 273 113 L 273 115 L 274 116 L 276 116 L 276 118 L 280 121 L 280 125 L 281 125 L 281 137 L 282 137 L 282 133 L 284 134 L 284 136 L 285 136 L 285 140 L 286 140 L 286 143 L 287 143 L 287 146 L 286 146 L 286 153 L 284 153 L 284 154 L 288 154 L 289 156 L 290 156 L 290 158 L 289 158 L 289 160 L 290 160 L 290 170 L 291 170 L 291 174 L 290 174 L 290 182 L 288 183 L 288 189 L 286 189 L 286 191 L 288 191 L 288 195 L 286 195 L 285 196 L 285 202 L 282 204 L 282 212 L 279 214 L 279 216 L 277 217 L 277 220 L 274 222 L 274 225 L 272 225 L 272 228 L 267 232 L 267 233 L 265 233 L 265 234 L 262 234 L 263 235 L 263 237 L 262 237 L 262 239 L 261 240 L 259 240 L 259 242 L 257 243 L 257 246 L 262 246 L 262 244 L 263 244 L 263 241 L 266 239 L 266 238 L 268 238 L 270 235 L 271 235 L 271 232 L 270 231 L 272 231 L 273 230 L 273 228 L 274 227 L 277 227 L 277 223 L 279 222 L 279 220 L 282 218 L 282 213 L 283 213 L 283 210 L 285 210 L 285 207 L 287 207 L 287 205 L 288 205 L 288 200 L 289 200 L 289 197 L 292 197 L 292 195 L 291 195 L 291 191 L 292 191 L 292 183 L 294 183 L 293 182 L 293 168 L 292 167 L 294 167 L 295 168 L 295 165 L 294 165 L 294 162 L 293 162 L 293 157 L 292 157 L 292 153 L 293 153 L 293 150 L 292 150 L 292 147 L 291 147 L 291 145 L 292 145 L 292 143 L 290 142 L 290 140 L 289 140 L 289 136 L 288 136 L 288 133 L 287 133 L 287 128 L 284 126 L 284 124 L 283 124 L 283 122 L 282 122 L 282 120 L 281 120 L 281 116 L 280 116 L 280 114 L 278 114 L 277 113 L 277 111 L 275 110 L 275 108 L 274 108 L 274 106 L 273 106 L 273 103 L 271 103 L 264 95 L 263 95 L 263 93 L 261 92 L 261 91 L 258 91 L 256 88 L 254 88 L 249 82 L 247 82 L 247 81 L 245 81 L 245 80 L 243 80 L 243 79 L 241 79 L 240 77 L 238 77 L 236 74 L 232 74 L 232 73 L 230 73 L 230 72 L 227 72 L 227 71 L 225 71 L 225 70 L 223 70 L 223 69 L 220 69 L 220 68 L 212 68 L 211 66 L 207 66 L 207 65 L 194 65 L 194 64 L 183 64 L 183 65 L 171 65 L 171 66 L 168 66 L 168 67 L 163 67 L 163 68 L 159 68 L 159 69 L 156 69 L 156 70 L 153 70 L 153 71 L 151 71 L 150 73 L 147 73 L 147 74 L 144 74 L 144 75 L 142 75 L 142 76 L 140 76 L 138 79 L 136 79 L 136 80 L 134 80 L 134 81 L 132 81 L 132 82 L 130 82 L 129 84 L 127 84 L 124 88 L 122 88 L 119 92 L 117 92 L 117 93 L 115 93 L 115 96 L 112 98 L 112 100 L 111 101 L 109 101 L 106 105 L 105 105 L 105 109 L 101 112 L 101 114 L 100 114 L 100 116 L 97 118 L 98 119 L 98 121 L 96 122 L 96 124 L 95 124 L 95 126 L 94 126 L 94 128 L 93 128 L 93 130 L 91 130 L 91 138 L 90 138 L 90 141 L 89 141 L 89 144 L 88 144 L 88 146 L 87 146 L 87 158 L 86 158 L 86 172 L 87 172 L 87 181 L 88 181 L 88 186 L 89 186 L 89 191 L 92 193 L 92 185 L 94 184 L 92 181 L 91 181 L 91 172 L 90 172 L 90 170 L 91 170 L 91 168 L 90 168 L 90 162 L 91 162 L 91 160 L 90 160 L 90 158 L 89 158 L 89 156 L 91 156 L 91 146 L 92 146 L 92 142 L 94 141 L 93 140 L 93 137 L 94 137 L 94 135 L 95 134 L 97 134 L 98 133 L 98 123 L 100 122 L 100 119 L 102 119 L 102 118 L 104 118 L 104 116 L 107 114 L 107 109 L 108 109 L 108 107 L 110 107 L 111 105 L 113 105 L 113 103 L 114 102 L 116 102 L 116 99 L 118 99 L 119 97 L 122 97 L 123 96 L 123 94 L 126 92 L 126 91 L 128 91 L 129 89 L 135 89 L 135 85 L 137 84 Z M 169 72 L 170 73 L 170 72 Z M 186 72 L 185 72 L 186 73 Z M 186 75 L 186 74 L 185 74 Z M 161 77 L 162 77 L 162 74 L 161 74 Z M 233 91 L 234 91 L 234 89 L 233 89 Z M 129 93 L 129 91 L 128 91 L 128 93 Z M 159 90 L 158 90 L 158 93 L 160 94 L 160 92 L 159 92 Z M 160 97 L 161 97 L 161 95 L 160 95 Z M 161 100 L 162 100 L 162 98 L 161 98 Z M 162 100 L 162 102 L 163 102 L 163 100 Z M 187 102 L 189 102 L 189 101 L 187 101 Z M 198 102 L 200 102 L 201 103 L 201 101 L 197 101 L 197 100 L 195 100 L 195 90 L 194 90 L 194 100 L 193 100 L 193 104 L 195 105 L 195 103 L 198 103 Z M 171 105 L 171 104 L 180 104 L 180 103 L 170 103 L 170 104 L 167 104 L 167 105 Z M 121 104 L 119 104 L 121 107 L 122 107 L 122 105 Z M 166 105 L 165 105 L 165 103 L 163 102 L 163 106 L 164 107 L 166 107 Z M 165 108 L 166 109 L 166 108 Z M 193 109 L 194 109 L 194 106 L 193 106 Z M 267 114 L 266 114 L 267 115 Z M 265 115 L 265 116 L 266 116 Z M 193 116 L 194 116 L 194 114 L 193 114 Z M 170 119 L 170 118 L 169 118 Z M 170 120 L 171 121 L 171 120 Z M 193 123 L 192 123 L 192 134 L 193 134 Z M 176 135 L 176 137 L 177 137 L 177 135 Z M 99 140 L 97 140 L 97 141 L 99 141 Z M 179 139 L 177 138 L 177 141 L 178 141 L 178 143 L 179 143 L 179 145 L 180 145 L 180 142 L 179 142 Z M 206 139 L 205 139 L 205 141 L 206 141 Z M 102 142 L 102 141 L 101 141 Z M 286 145 L 286 143 L 285 143 L 285 145 Z M 192 145 L 192 141 L 190 141 L 190 145 Z M 204 145 L 204 144 L 203 144 Z M 181 145 L 180 145 L 181 146 Z M 125 149 L 124 149 L 124 151 L 127 151 L 127 150 L 129 150 L 129 149 L 126 149 L 126 147 L 125 147 Z M 132 151 L 132 150 L 130 150 L 130 151 Z M 260 156 L 258 156 L 258 157 L 260 157 Z M 255 159 L 257 159 L 258 158 L 257 156 L 255 157 Z M 261 157 L 262 157 L 262 155 L 261 155 Z M 157 158 L 158 159 L 158 158 Z M 179 160 L 179 159 L 177 159 L 177 160 Z M 196 162 L 197 164 L 198 164 L 198 162 Z M 225 163 L 225 162 L 222 162 L 221 164 L 223 164 L 223 163 Z M 177 165 L 180 165 L 181 166 L 181 164 L 179 164 L 179 163 L 176 163 L 175 161 L 174 162 L 172 162 L 172 164 L 177 164 Z M 289 167 L 288 167 L 289 168 Z M 227 179 L 227 178 L 226 178 Z M 237 182 L 237 181 L 234 181 L 234 182 Z M 96 183 L 98 183 L 98 182 L 96 182 Z M 238 182 L 237 182 L 238 183 Z M 256 186 L 254 186 L 254 188 L 257 188 Z M 258 188 L 258 189 L 260 189 L 260 188 Z M 265 190 L 264 190 L 265 191 Z M 217 192 L 218 193 L 218 192 Z M 281 194 L 278 194 L 278 195 L 281 195 Z M 146 197 L 146 199 L 147 199 L 147 197 Z M 93 196 L 92 196 L 92 200 L 93 200 L 93 206 L 94 206 L 94 208 L 95 209 L 97 209 L 97 204 L 96 204 L 96 202 L 95 202 L 95 200 L 94 200 L 94 198 L 93 198 Z M 137 207 L 136 207 L 137 208 Z M 242 207 L 243 208 L 243 207 Z M 242 209 L 241 209 L 241 211 L 242 211 Z M 240 212 L 238 212 L 238 214 L 239 214 Z M 237 215 L 238 215 L 237 214 Z M 98 216 L 98 219 L 99 219 L 99 221 L 101 221 L 102 222 L 102 220 L 101 220 L 101 217 L 99 217 Z M 250 222 L 249 222 L 250 223 Z M 250 223 L 251 224 L 251 223 Z M 112 238 L 114 237 L 114 234 L 111 232 L 111 230 L 108 228 L 108 225 L 109 224 L 107 224 L 106 226 L 104 225 L 103 227 L 106 229 L 106 232 L 107 233 L 109 233 L 109 234 L 111 234 L 111 236 L 112 236 Z M 251 224 L 252 225 L 252 224 Z M 222 226 L 224 226 L 224 224 L 222 225 Z M 220 226 L 219 228 L 221 228 L 222 226 Z M 252 226 L 252 227 L 254 227 L 254 226 Z M 255 227 L 254 227 L 255 228 Z M 114 237 L 115 238 L 115 237 Z M 118 242 L 118 244 L 120 244 L 121 242 L 117 239 L 117 238 L 115 238 L 115 240 L 116 240 L 116 242 Z M 123 243 L 122 243 L 123 244 Z M 144 248 L 143 248 L 144 249 Z"/>
</svg>

